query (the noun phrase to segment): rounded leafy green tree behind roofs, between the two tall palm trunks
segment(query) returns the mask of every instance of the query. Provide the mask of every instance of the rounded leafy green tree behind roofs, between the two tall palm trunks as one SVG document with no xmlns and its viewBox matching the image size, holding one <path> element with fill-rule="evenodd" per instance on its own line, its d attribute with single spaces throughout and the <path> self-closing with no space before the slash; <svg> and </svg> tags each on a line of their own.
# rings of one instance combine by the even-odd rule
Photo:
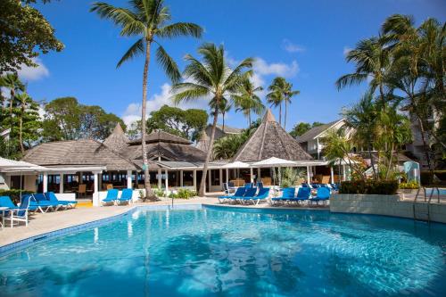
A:
<svg viewBox="0 0 446 297">
<path fill-rule="evenodd" d="M 161 129 L 177 136 L 195 141 L 208 122 L 206 111 L 189 109 L 182 110 L 178 107 L 163 105 L 159 111 L 152 111 L 147 120 L 147 131 Z"/>
</svg>

